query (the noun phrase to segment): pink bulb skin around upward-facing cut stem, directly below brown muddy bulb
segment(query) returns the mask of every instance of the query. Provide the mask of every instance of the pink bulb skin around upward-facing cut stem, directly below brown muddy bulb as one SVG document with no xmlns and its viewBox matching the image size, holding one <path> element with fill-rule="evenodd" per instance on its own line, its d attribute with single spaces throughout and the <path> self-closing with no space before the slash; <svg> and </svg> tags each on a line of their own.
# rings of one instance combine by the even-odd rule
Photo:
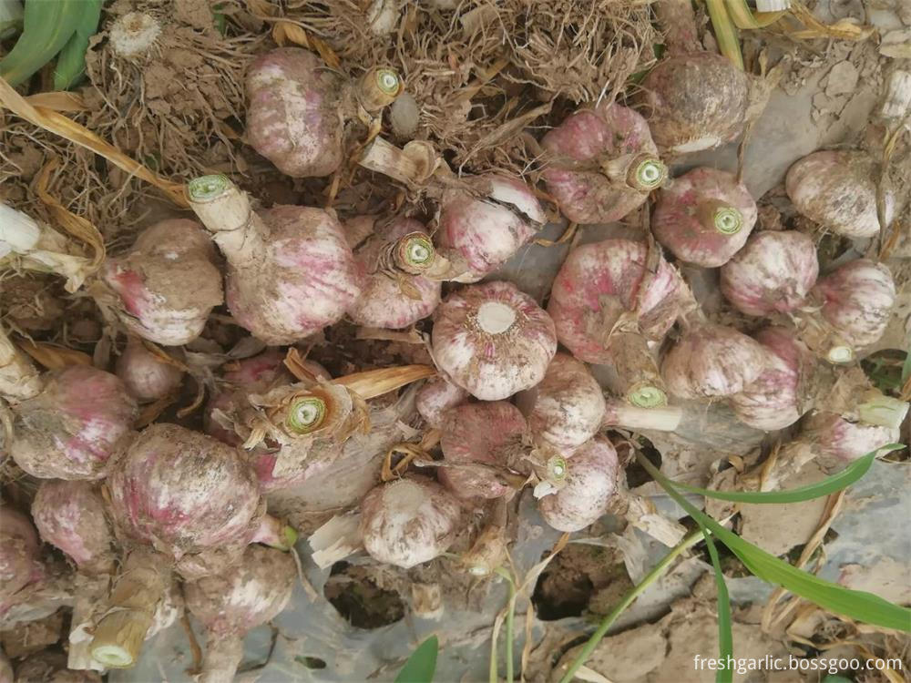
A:
<svg viewBox="0 0 911 683">
<path fill-rule="evenodd" d="M 700 203 L 712 199 L 741 212 L 740 230 L 727 235 L 711 225 L 702 225 Z M 651 216 L 651 231 L 678 259 L 703 268 L 717 268 L 746 243 L 757 216 L 756 202 L 733 174 L 715 168 L 693 168 L 660 189 Z"/>
</svg>

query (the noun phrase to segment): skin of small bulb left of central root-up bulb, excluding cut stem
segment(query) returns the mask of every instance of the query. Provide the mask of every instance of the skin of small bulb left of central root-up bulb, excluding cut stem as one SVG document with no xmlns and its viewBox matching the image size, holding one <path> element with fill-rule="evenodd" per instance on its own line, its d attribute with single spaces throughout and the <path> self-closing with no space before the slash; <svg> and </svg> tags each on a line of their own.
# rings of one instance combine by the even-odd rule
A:
<svg viewBox="0 0 911 683">
<path fill-rule="evenodd" d="M 424 224 L 415 219 L 395 219 L 379 239 L 369 240 L 354 255 L 362 282 L 361 296 L 348 309 L 348 317 L 355 324 L 400 330 L 434 312 L 440 302 L 442 282 L 408 273 L 391 276 L 376 270 L 376 258 L 384 243 L 425 229 Z M 403 280 L 406 287 L 414 289 L 416 299 L 404 291 Z"/>
</svg>

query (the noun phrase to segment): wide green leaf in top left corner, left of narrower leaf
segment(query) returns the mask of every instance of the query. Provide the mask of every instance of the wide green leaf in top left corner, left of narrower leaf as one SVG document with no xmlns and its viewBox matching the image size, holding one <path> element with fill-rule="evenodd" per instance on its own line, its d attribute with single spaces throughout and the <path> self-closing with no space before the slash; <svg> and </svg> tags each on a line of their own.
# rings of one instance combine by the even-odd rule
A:
<svg viewBox="0 0 911 683">
<path fill-rule="evenodd" d="M 79 0 L 26 0 L 22 35 L 0 60 L 0 76 L 18 86 L 45 66 L 76 30 Z"/>
</svg>

